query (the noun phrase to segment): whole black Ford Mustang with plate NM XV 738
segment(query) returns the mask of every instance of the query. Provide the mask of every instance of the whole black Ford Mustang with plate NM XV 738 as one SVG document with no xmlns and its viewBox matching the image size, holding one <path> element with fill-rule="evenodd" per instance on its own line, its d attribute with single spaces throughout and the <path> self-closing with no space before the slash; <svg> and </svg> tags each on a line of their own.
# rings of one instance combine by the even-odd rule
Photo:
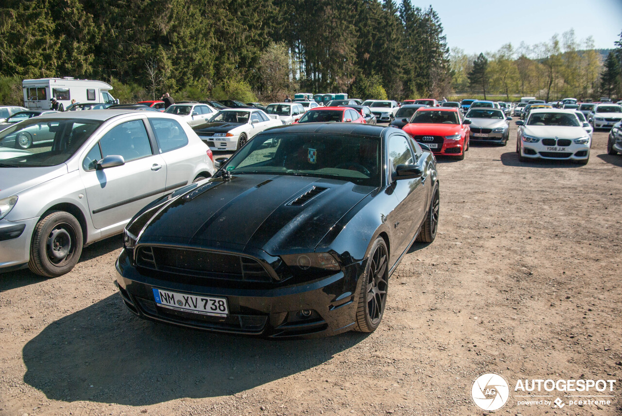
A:
<svg viewBox="0 0 622 416">
<path fill-rule="evenodd" d="M 187 327 L 372 332 L 389 277 L 415 238 L 434 240 L 438 215 L 436 160 L 402 130 L 275 127 L 134 216 L 118 286 L 140 317 Z"/>
</svg>

